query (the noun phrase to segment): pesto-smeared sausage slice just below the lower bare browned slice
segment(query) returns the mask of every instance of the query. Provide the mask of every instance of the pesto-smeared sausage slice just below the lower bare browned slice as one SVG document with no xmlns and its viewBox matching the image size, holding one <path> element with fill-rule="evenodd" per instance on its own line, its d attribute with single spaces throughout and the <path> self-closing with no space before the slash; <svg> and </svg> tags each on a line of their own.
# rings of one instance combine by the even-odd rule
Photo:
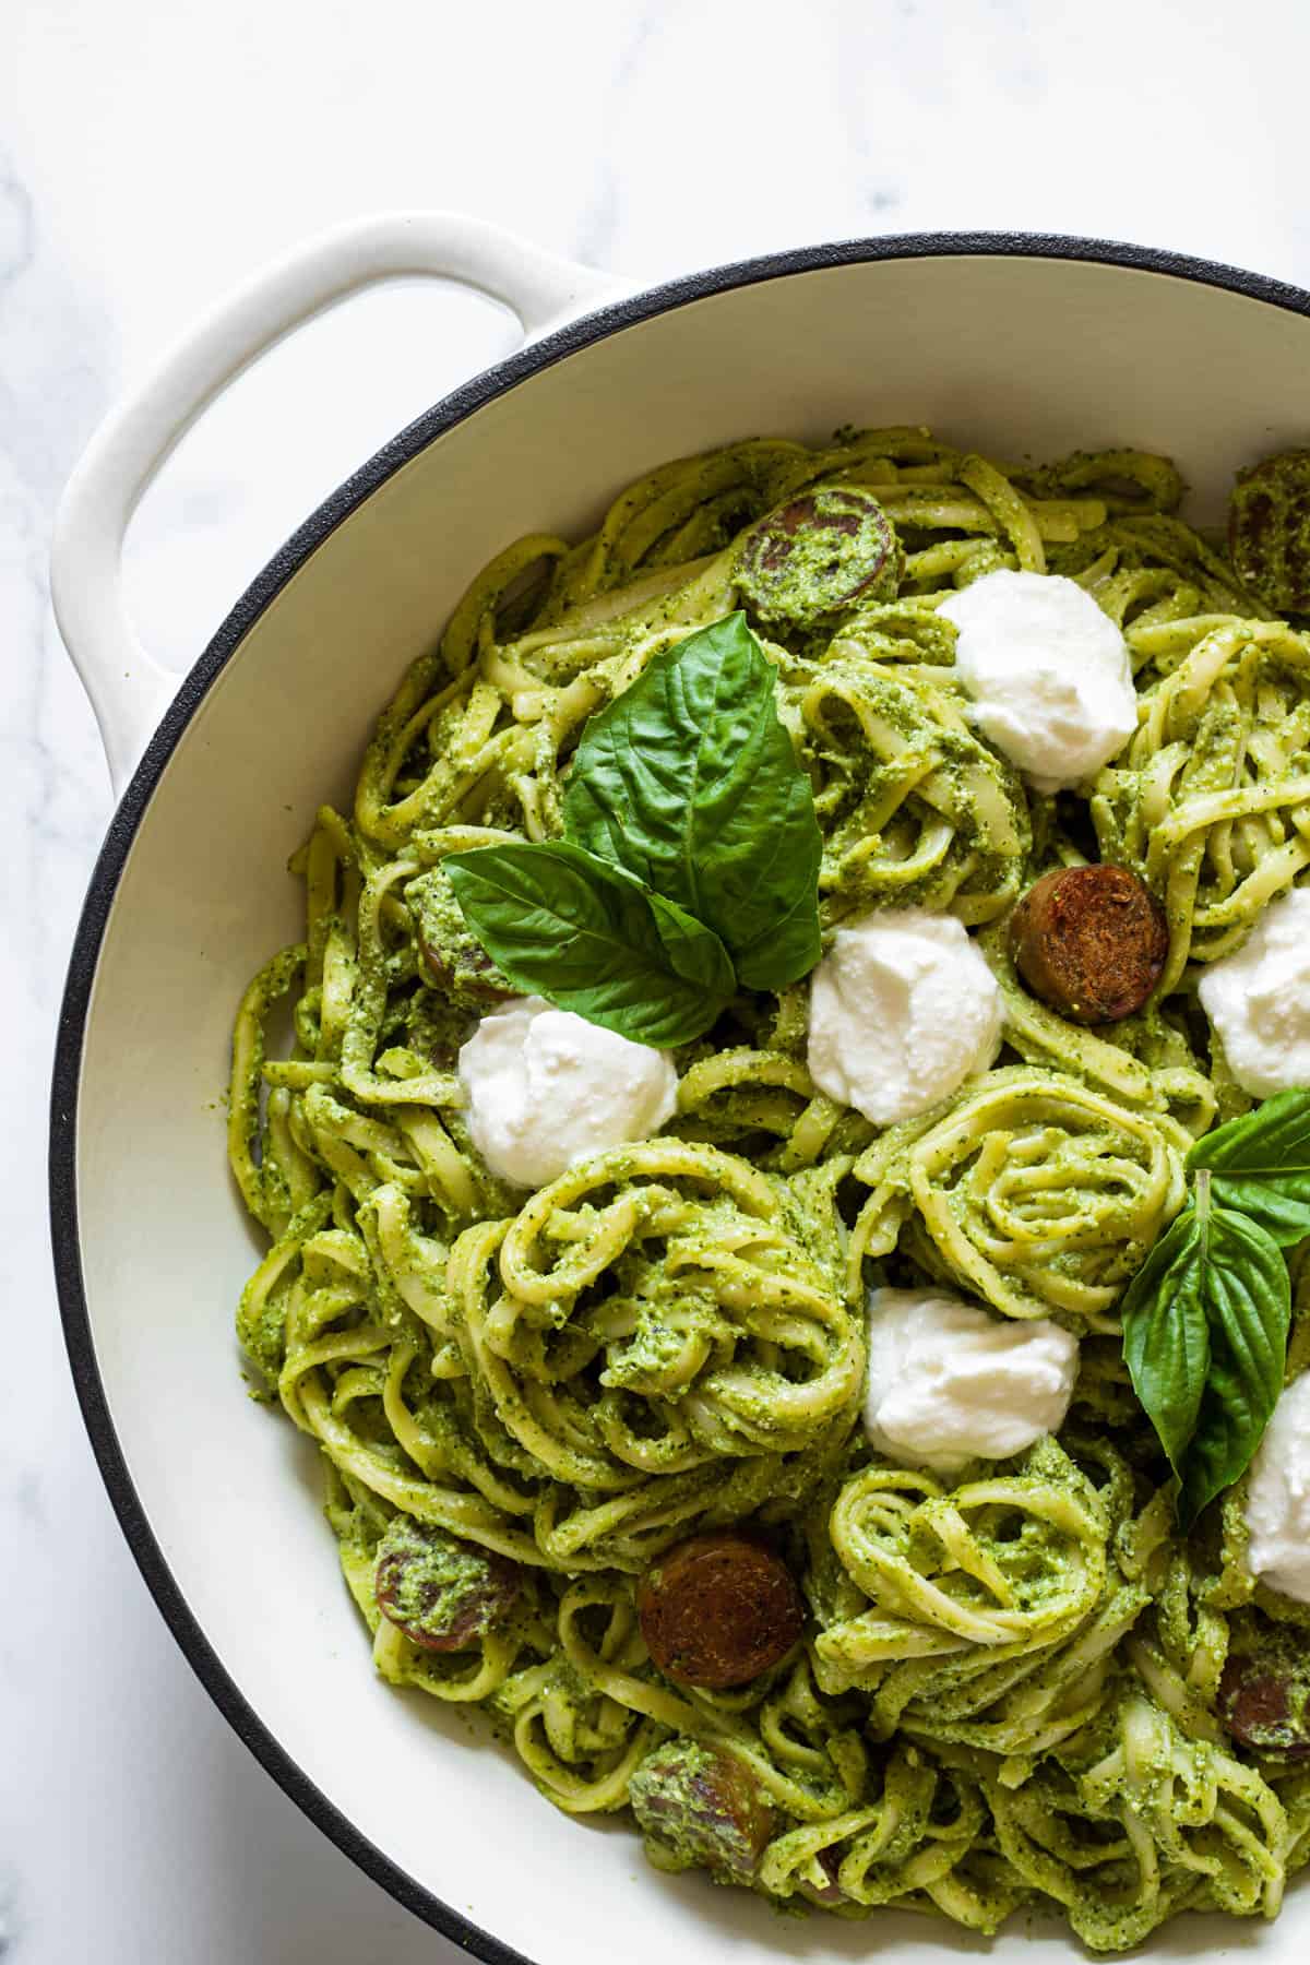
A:
<svg viewBox="0 0 1310 1965">
<path fill-rule="evenodd" d="M 666 1739 L 628 1782 L 644 1835 L 682 1867 L 750 1882 L 778 1814 L 744 1761 L 695 1739 Z"/>
</svg>

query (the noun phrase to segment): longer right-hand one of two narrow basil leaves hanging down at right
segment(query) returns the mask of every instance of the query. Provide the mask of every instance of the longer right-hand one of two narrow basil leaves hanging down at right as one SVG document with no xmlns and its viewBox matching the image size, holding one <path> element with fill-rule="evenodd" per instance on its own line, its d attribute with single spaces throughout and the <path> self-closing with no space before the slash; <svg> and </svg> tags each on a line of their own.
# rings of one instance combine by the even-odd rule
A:
<svg viewBox="0 0 1310 1965">
<path fill-rule="evenodd" d="M 1210 1207 L 1206 1222 L 1210 1372 L 1182 1466 L 1182 1527 L 1245 1474 L 1283 1391 L 1292 1291 L 1259 1222 Z"/>
</svg>

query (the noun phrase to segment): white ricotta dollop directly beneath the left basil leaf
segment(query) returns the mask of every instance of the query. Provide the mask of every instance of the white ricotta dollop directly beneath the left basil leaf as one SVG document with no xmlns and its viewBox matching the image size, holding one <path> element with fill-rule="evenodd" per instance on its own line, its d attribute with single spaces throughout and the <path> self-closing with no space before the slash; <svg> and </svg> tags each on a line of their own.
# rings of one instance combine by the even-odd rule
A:
<svg viewBox="0 0 1310 1965">
<path fill-rule="evenodd" d="M 460 1049 L 473 1146 L 517 1187 L 544 1187 L 607 1146 L 648 1140 L 678 1104 L 666 1051 L 522 996 Z"/>
</svg>

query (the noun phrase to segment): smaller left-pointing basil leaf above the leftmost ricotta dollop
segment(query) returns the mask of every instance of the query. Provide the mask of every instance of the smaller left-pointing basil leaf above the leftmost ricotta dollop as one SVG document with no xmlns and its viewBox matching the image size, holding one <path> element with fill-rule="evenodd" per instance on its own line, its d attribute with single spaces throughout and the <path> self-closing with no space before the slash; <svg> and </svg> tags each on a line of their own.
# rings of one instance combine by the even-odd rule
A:
<svg viewBox="0 0 1310 1965">
<path fill-rule="evenodd" d="M 668 1049 L 715 1022 L 733 963 L 715 933 L 566 841 L 442 861 L 464 918 L 515 988 Z"/>
</svg>

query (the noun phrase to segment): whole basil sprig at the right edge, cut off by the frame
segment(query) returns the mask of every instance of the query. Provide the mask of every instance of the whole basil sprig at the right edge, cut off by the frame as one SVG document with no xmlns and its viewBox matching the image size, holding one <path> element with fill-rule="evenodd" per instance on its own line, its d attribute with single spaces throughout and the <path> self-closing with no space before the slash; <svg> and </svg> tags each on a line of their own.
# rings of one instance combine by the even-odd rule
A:
<svg viewBox="0 0 1310 1965">
<path fill-rule="evenodd" d="M 1279 1403 L 1292 1291 L 1283 1250 L 1310 1234 L 1310 1093 L 1288 1091 L 1188 1153 L 1188 1207 L 1123 1297 L 1123 1358 L 1190 1527 L 1251 1464 Z"/>
</svg>

